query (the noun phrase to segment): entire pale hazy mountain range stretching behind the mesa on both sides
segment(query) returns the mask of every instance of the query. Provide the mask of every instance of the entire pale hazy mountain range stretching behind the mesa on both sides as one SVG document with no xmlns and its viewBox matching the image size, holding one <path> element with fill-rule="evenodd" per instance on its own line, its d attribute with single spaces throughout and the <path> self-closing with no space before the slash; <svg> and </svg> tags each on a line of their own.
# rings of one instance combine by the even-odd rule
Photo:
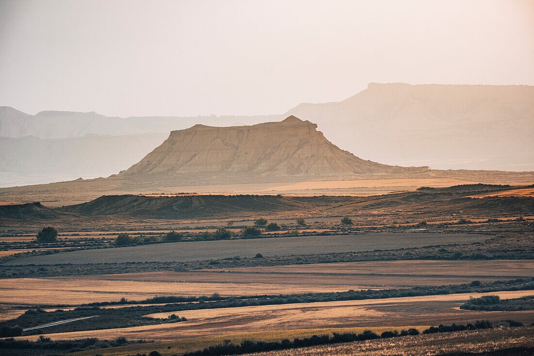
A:
<svg viewBox="0 0 534 356">
<path fill-rule="evenodd" d="M 0 139 L 0 186 L 60 180 L 54 174 L 61 179 L 65 174 L 71 179 L 103 176 L 142 159 L 170 131 L 199 123 L 254 125 L 288 115 L 316 122 L 335 145 L 363 159 L 441 169 L 534 171 L 534 87 L 371 83 L 342 102 L 305 103 L 286 114 L 254 117 L 29 115 L 0 107 L 0 136 L 11 138 Z M 94 134 L 100 135 L 98 140 L 90 139 Z"/>
</svg>

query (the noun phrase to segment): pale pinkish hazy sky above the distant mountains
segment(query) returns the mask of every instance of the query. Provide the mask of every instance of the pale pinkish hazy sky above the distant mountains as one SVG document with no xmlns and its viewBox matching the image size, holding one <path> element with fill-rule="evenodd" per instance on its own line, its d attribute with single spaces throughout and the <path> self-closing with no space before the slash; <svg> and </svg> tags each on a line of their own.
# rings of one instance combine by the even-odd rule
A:
<svg viewBox="0 0 534 356">
<path fill-rule="evenodd" d="M 283 113 L 368 82 L 534 84 L 534 1 L 0 0 L 0 105 Z"/>
</svg>

